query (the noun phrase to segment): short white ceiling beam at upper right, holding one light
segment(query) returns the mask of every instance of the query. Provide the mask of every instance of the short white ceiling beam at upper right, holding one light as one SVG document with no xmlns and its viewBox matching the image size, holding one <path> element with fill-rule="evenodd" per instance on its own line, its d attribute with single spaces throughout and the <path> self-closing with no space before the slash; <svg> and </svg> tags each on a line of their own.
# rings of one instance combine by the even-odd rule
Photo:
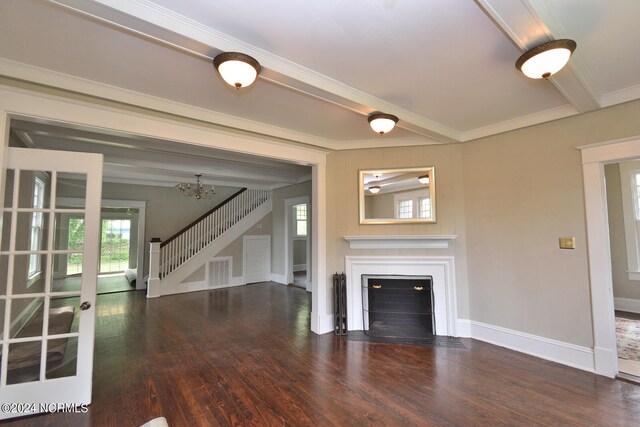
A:
<svg viewBox="0 0 640 427">
<path fill-rule="evenodd" d="M 522 52 L 549 40 L 572 38 L 546 0 L 476 0 Z M 515 60 L 514 58 L 514 64 Z M 601 91 L 589 72 L 580 44 L 569 65 L 549 79 L 578 111 L 601 108 Z"/>
</svg>

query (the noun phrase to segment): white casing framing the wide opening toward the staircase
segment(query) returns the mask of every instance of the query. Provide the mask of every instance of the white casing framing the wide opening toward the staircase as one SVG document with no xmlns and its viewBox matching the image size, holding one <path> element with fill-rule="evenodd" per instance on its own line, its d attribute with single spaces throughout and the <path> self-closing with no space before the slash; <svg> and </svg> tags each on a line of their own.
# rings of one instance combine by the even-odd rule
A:
<svg viewBox="0 0 640 427">
<path fill-rule="evenodd" d="M 130 91 L 126 91 L 125 94 L 125 92 L 120 92 L 112 87 L 105 87 L 88 80 L 81 81 L 70 76 L 67 78 L 67 76 L 49 75 L 40 71 L 37 74 L 39 74 L 39 77 L 36 80 L 47 86 L 60 87 L 99 98 L 122 101 L 127 105 L 143 106 L 151 110 L 157 109 L 154 108 L 154 105 L 157 107 L 156 98 L 151 100 Z M 125 97 L 122 98 L 120 95 L 125 95 Z M 311 203 L 311 218 L 313 218 L 311 241 L 313 248 L 310 269 L 313 286 L 311 330 L 317 334 L 333 331 L 331 299 L 328 297 L 329 275 L 327 273 L 326 259 L 327 159 L 324 150 L 272 142 L 264 138 L 247 136 L 244 133 L 221 131 L 211 126 L 194 125 L 193 123 L 185 123 L 167 117 L 145 115 L 114 105 L 94 104 L 77 98 L 65 98 L 64 96 L 0 85 L 0 136 L 5 141 L 5 146 L 0 145 L 0 164 L 4 164 L 6 159 L 9 122 L 10 118 L 14 116 L 21 118 L 32 117 L 36 120 L 68 123 L 72 126 L 159 138 L 186 144 L 186 146 L 193 144 L 213 147 L 310 165 L 312 168 L 313 188 Z M 199 116 L 199 118 L 205 122 L 207 121 L 204 117 Z M 2 178 L 0 177 L 0 179 Z M 0 185 L 1 190 L 2 185 Z"/>
</svg>

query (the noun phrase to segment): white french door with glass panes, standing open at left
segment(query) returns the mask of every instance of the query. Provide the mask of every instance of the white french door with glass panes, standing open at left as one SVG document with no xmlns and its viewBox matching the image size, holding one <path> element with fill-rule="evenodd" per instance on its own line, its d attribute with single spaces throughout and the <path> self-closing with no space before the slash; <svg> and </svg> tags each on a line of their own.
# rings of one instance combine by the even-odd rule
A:
<svg viewBox="0 0 640 427">
<path fill-rule="evenodd" d="M 91 403 L 102 155 L 9 148 L 0 244 L 0 419 Z M 58 194 L 84 193 L 83 206 Z M 69 246 L 69 216 L 84 219 Z M 65 281 L 69 260 L 80 281 Z"/>
</svg>

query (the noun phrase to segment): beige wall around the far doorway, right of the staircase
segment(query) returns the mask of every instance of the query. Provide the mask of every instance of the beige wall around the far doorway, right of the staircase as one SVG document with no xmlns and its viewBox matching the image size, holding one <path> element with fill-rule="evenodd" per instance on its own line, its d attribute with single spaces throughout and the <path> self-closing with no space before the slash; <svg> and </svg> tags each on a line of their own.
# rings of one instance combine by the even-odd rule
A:
<svg viewBox="0 0 640 427">
<path fill-rule="evenodd" d="M 271 237 L 271 272 L 285 274 L 284 271 L 284 201 L 294 197 L 309 196 L 308 212 L 311 207 L 311 181 L 289 185 L 273 191 L 273 232 Z M 311 218 L 313 222 L 313 218 Z M 311 229 L 311 228 L 309 228 Z M 311 242 L 313 245 L 313 242 Z"/>
</svg>

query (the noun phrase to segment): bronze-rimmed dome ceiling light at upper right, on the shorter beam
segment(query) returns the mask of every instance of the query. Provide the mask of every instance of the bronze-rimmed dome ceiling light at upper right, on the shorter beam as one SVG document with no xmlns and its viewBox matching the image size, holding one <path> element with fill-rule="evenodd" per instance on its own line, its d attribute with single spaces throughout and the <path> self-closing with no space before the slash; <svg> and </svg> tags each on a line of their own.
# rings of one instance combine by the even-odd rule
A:
<svg viewBox="0 0 640 427">
<path fill-rule="evenodd" d="M 548 79 L 567 64 L 574 50 L 576 42 L 569 39 L 542 43 L 523 53 L 516 68 L 532 79 Z"/>
</svg>

